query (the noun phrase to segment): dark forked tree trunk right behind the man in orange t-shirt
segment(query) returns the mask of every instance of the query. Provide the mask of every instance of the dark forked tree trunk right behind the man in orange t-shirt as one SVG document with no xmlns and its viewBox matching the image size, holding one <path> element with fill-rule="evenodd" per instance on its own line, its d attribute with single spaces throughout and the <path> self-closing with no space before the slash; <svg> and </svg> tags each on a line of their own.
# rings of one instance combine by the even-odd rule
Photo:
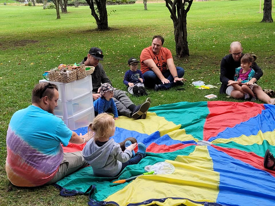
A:
<svg viewBox="0 0 275 206">
<path fill-rule="evenodd" d="M 165 0 L 165 2 L 174 25 L 176 55 L 178 58 L 189 56 L 186 17 L 193 0 L 174 0 L 174 2 Z"/>
</svg>

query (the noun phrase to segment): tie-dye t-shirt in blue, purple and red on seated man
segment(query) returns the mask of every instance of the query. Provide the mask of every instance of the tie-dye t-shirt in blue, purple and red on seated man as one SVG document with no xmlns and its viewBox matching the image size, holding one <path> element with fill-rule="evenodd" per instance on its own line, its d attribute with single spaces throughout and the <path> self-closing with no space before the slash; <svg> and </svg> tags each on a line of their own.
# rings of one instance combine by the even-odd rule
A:
<svg viewBox="0 0 275 206">
<path fill-rule="evenodd" d="M 62 119 L 36 106 L 13 114 L 7 131 L 6 172 L 19 187 L 44 185 L 56 174 L 72 131 Z"/>
</svg>

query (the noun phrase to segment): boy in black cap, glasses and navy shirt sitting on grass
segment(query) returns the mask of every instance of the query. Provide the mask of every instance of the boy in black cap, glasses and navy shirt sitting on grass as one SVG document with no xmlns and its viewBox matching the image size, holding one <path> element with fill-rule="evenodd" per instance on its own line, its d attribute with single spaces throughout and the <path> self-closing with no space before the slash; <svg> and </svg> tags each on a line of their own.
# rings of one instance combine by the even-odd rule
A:
<svg viewBox="0 0 275 206">
<path fill-rule="evenodd" d="M 139 62 L 140 61 L 133 57 L 128 60 L 130 69 L 125 72 L 123 79 L 123 83 L 128 87 L 128 92 L 134 96 L 148 95 L 144 88 L 142 72 L 137 69 Z"/>
</svg>

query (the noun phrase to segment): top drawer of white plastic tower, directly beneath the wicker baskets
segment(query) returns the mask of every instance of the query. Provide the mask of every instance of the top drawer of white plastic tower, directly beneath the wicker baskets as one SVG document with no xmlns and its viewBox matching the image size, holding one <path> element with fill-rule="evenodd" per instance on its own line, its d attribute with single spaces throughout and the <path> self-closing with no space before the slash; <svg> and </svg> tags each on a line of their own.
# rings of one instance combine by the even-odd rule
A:
<svg viewBox="0 0 275 206">
<path fill-rule="evenodd" d="M 42 82 L 49 82 L 49 81 L 39 80 L 39 83 L 42 83 Z M 91 75 L 88 75 L 85 78 L 74 80 L 68 83 L 63 83 L 63 82 L 50 82 L 50 83 L 56 84 L 56 86 L 58 87 L 59 102 L 68 102 L 71 100 L 75 100 L 93 91 Z"/>
</svg>

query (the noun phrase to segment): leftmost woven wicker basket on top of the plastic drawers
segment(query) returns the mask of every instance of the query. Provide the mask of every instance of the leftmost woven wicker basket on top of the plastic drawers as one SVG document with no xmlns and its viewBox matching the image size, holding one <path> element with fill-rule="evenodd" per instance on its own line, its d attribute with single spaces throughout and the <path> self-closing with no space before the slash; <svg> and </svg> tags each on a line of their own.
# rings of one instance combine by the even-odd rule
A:
<svg viewBox="0 0 275 206">
<path fill-rule="evenodd" d="M 51 82 L 72 82 L 76 80 L 76 70 L 66 68 L 51 70 L 48 75 Z"/>
</svg>

